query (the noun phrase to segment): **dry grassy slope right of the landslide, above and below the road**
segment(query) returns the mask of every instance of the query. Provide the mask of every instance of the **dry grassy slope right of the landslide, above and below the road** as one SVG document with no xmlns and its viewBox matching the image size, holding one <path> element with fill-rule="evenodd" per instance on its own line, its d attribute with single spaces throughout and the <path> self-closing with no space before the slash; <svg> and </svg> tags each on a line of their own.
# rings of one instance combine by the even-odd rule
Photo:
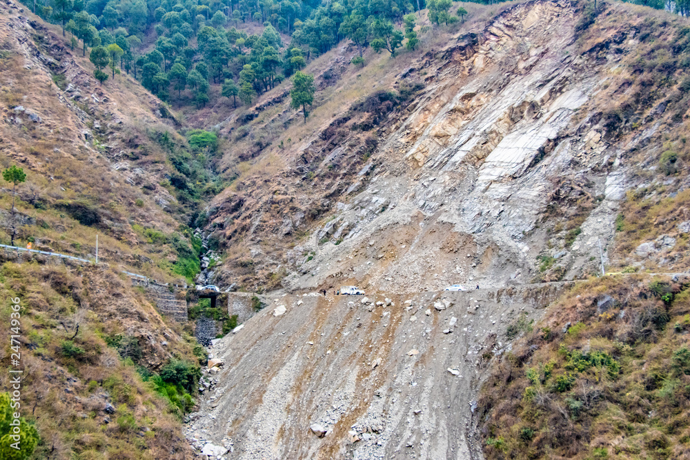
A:
<svg viewBox="0 0 690 460">
<path fill-rule="evenodd" d="M 621 159 L 638 184 L 622 206 L 610 271 L 687 271 L 690 262 L 688 235 L 678 230 L 690 206 L 687 26 L 671 14 L 613 4 L 580 38 L 588 52 L 611 46 L 618 31 L 639 41 L 636 54 L 609 75 L 604 97 L 611 106 L 600 114 L 607 141 L 634 146 Z M 629 143 L 652 126 L 650 141 Z M 671 165 L 669 151 L 676 154 Z M 651 257 L 635 254 L 640 243 L 662 235 L 676 238 L 676 246 Z M 690 455 L 690 283 L 684 280 L 592 278 L 551 306 L 493 363 L 479 403 L 486 457 Z M 604 295 L 613 307 L 598 310 Z"/>
</svg>

